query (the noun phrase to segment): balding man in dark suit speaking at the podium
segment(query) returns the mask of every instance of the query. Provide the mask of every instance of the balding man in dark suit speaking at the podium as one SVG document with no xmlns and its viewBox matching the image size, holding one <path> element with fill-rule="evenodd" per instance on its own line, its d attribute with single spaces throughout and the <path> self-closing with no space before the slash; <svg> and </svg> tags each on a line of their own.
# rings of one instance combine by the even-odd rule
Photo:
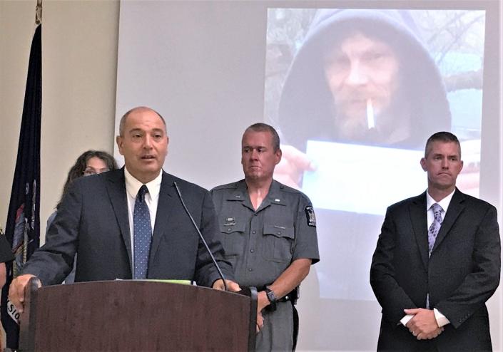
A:
<svg viewBox="0 0 503 352">
<path fill-rule="evenodd" d="M 223 274 L 233 279 L 215 237 L 218 224 L 209 192 L 162 170 L 168 135 L 161 115 L 145 107 L 128 111 L 116 140 L 125 167 L 73 182 L 49 227 L 46 244 L 31 256 L 23 275 L 12 281 L 9 298 L 18 310 L 23 309 L 29 279 L 37 276 L 44 286 L 59 284 L 71 271 L 75 253 L 77 282 L 188 279 L 223 289 L 223 281 L 181 205 L 176 185 Z M 143 217 L 137 221 L 138 207 L 143 209 Z M 144 234 L 147 227 L 148 236 L 138 239 L 137 231 Z M 239 289 L 233 281 L 228 286 Z"/>
</svg>

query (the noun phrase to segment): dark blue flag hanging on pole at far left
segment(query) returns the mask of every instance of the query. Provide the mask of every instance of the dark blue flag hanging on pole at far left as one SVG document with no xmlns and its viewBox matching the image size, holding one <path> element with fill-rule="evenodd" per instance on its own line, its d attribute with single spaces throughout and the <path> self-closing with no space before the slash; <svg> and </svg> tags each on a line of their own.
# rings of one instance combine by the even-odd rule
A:
<svg viewBox="0 0 503 352">
<path fill-rule="evenodd" d="M 9 286 L 40 242 L 40 124 L 42 109 L 42 25 L 31 41 L 23 117 L 19 131 L 16 170 L 7 214 L 6 238 L 12 244 L 14 262 L 6 263 L 7 281 L 1 293 L 1 323 L 7 348 L 18 347 L 19 314 L 8 301 Z"/>
</svg>

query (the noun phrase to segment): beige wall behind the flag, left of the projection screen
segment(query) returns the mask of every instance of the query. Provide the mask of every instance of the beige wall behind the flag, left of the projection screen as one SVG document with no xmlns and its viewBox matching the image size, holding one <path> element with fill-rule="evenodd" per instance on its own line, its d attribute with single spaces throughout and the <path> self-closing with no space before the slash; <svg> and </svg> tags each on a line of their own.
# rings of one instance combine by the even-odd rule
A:
<svg viewBox="0 0 503 352">
<path fill-rule="evenodd" d="M 36 0 L 0 0 L 0 224 L 5 229 Z M 41 237 L 68 169 L 87 149 L 113 152 L 118 1 L 44 0 Z"/>
</svg>

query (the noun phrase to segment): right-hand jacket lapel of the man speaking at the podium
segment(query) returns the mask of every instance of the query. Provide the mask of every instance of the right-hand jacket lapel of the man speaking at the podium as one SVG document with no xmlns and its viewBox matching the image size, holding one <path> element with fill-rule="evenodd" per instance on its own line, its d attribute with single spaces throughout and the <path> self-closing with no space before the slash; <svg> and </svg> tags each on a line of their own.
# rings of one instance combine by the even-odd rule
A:
<svg viewBox="0 0 503 352">
<path fill-rule="evenodd" d="M 163 180 L 161 181 L 161 190 L 159 191 L 159 202 L 157 205 L 156 224 L 153 227 L 153 237 L 151 244 L 151 254 L 148 260 L 148 266 L 153 265 L 153 259 L 156 257 L 156 252 L 161 243 L 166 229 L 169 228 L 170 216 L 173 212 L 173 207 L 179 206 L 176 189 L 173 185 L 173 176 L 163 171 Z"/>
</svg>

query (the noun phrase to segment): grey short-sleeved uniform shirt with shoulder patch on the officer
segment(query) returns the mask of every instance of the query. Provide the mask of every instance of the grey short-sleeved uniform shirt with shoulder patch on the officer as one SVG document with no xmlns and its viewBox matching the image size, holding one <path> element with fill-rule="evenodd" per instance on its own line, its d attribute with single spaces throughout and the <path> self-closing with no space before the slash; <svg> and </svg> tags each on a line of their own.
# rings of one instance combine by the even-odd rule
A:
<svg viewBox="0 0 503 352">
<path fill-rule="evenodd" d="M 308 197 L 273 180 L 257 211 L 245 180 L 211 190 L 225 259 L 240 286 L 271 284 L 295 259 L 320 260 Z"/>
</svg>

